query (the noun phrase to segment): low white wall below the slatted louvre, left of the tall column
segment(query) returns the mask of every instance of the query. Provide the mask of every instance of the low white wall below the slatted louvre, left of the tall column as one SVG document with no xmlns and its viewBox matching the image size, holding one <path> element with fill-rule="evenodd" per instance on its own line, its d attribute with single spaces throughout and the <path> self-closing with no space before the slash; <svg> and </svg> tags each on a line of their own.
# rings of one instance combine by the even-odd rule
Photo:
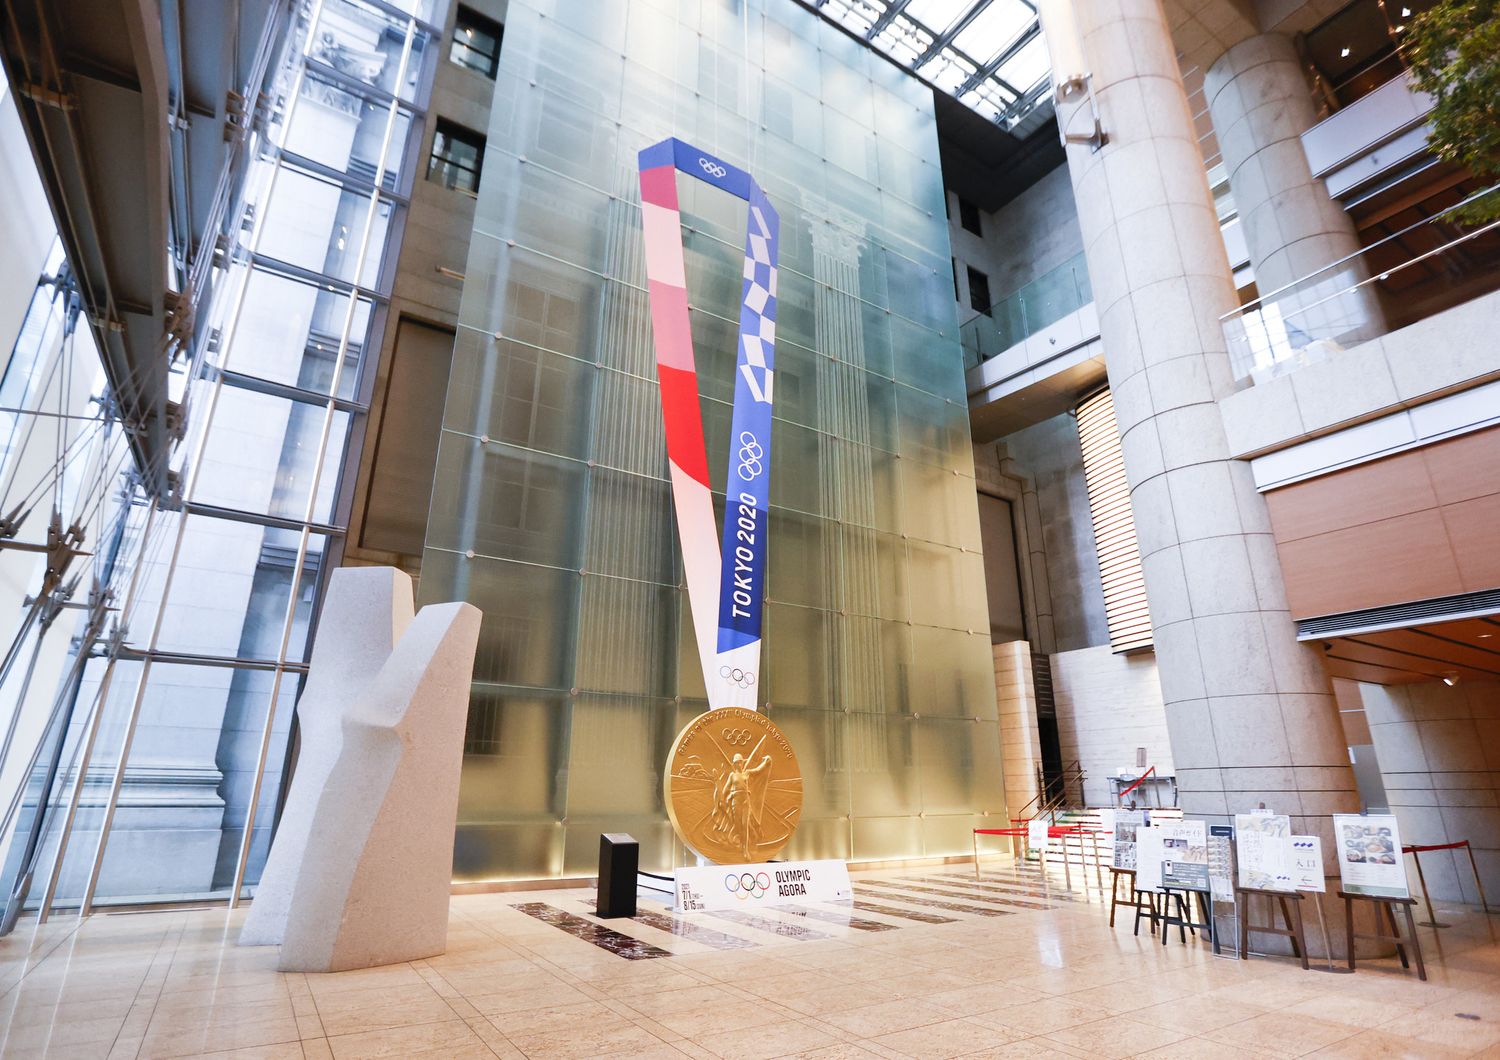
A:
<svg viewBox="0 0 1500 1060">
<path fill-rule="evenodd" d="M 1132 766 L 1138 747 L 1158 777 L 1176 774 L 1154 654 L 1116 655 L 1108 645 L 1059 652 L 1052 682 L 1062 762 L 1083 766 L 1088 805 L 1112 804 L 1108 777 Z"/>
</svg>

